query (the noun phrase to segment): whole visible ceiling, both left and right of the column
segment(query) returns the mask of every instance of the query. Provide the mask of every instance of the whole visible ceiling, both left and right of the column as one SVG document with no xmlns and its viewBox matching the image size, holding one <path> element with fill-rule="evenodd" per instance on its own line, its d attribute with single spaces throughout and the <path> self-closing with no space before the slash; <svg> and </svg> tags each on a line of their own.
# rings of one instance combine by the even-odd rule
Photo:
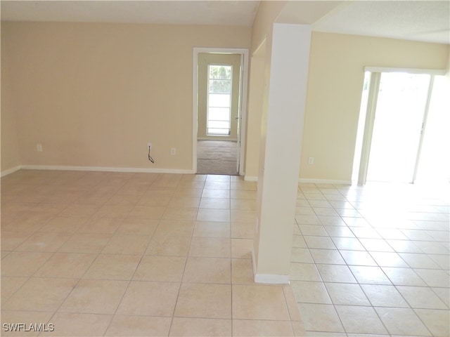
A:
<svg viewBox="0 0 450 337">
<path fill-rule="evenodd" d="M 259 1 L 1 1 L 1 20 L 251 26 Z M 290 0 L 314 31 L 450 44 L 450 1 Z M 310 14 L 311 13 L 311 14 Z M 297 19 L 297 20 L 296 20 Z M 283 20 L 281 20 L 283 21 Z M 279 21 L 278 21 L 279 22 Z"/>
</svg>

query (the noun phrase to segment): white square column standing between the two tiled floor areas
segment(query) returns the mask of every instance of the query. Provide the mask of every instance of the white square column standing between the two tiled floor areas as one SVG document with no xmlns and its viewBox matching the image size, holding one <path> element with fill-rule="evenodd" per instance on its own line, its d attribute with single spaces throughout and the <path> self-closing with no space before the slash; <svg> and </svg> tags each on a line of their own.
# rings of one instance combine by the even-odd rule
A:
<svg viewBox="0 0 450 337">
<path fill-rule="evenodd" d="M 289 282 L 310 41 L 309 25 L 274 24 L 252 251 L 258 283 Z"/>
</svg>

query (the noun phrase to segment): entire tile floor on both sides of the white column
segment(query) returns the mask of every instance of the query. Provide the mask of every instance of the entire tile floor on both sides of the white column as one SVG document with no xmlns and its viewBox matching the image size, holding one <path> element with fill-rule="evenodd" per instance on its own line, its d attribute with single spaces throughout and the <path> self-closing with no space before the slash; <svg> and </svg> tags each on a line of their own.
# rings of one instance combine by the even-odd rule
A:
<svg viewBox="0 0 450 337">
<path fill-rule="evenodd" d="M 237 176 L 2 178 L 2 336 L 449 336 L 448 189 L 300 184 L 290 286 L 252 282 L 255 194 Z"/>
</svg>

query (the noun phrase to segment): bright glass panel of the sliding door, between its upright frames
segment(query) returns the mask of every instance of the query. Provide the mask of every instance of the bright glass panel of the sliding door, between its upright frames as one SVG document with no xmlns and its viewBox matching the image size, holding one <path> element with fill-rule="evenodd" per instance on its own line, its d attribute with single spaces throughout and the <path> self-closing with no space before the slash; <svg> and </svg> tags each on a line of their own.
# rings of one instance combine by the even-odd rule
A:
<svg viewBox="0 0 450 337">
<path fill-rule="evenodd" d="M 412 183 L 429 86 L 428 74 L 381 74 L 367 180 Z"/>
</svg>

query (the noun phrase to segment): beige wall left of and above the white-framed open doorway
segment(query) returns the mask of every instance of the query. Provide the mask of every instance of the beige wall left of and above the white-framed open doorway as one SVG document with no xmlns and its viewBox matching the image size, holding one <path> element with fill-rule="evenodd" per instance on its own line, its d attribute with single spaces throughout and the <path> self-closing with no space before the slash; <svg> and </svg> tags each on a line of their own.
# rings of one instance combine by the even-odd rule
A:
<svg viewBox="0 0 450 337">
<path fill-rule="evenodd" d="M 13 74 L 2 131 L 17 130 L 18 151 L 13 131 L 2 133 L 1 170 L 18 152 L 25 165 L 191 170 L 193 48 L 250 48 L 250 35 L 250 27 L 2 22 L 1 68 Z M 4 118 L 12 115 L 15 126 Z"/>
</svg>

